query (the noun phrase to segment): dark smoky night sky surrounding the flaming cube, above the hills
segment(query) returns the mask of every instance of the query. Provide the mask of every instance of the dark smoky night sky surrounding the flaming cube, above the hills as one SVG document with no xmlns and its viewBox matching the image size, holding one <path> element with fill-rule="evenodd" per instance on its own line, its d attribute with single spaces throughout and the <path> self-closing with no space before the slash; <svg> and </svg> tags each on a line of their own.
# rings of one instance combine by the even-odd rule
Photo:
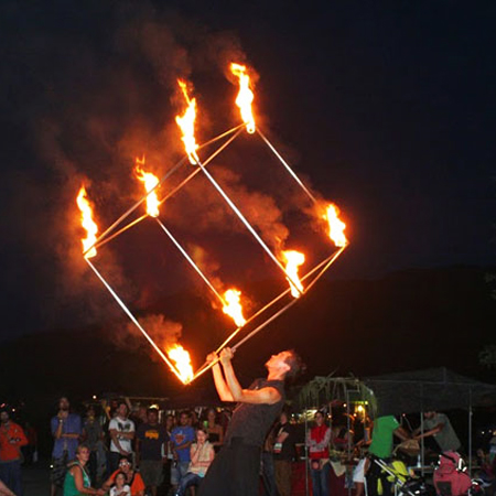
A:
<svg viewBox="0 0 496 496">
<path fill-rule="evenodd" d="M 69 220 L 80 181 L 108 224 L 136 200 L 134 154 L 177 160 L 177 76 L 204 138 L 233 126 L 233 54 L 260 76 L 260 121 L 343 208 L 332 277 L 494 263 L 495 21 L 490 2 L 3 2 L 3 335 L 105 317 Z"/>
</svg>

